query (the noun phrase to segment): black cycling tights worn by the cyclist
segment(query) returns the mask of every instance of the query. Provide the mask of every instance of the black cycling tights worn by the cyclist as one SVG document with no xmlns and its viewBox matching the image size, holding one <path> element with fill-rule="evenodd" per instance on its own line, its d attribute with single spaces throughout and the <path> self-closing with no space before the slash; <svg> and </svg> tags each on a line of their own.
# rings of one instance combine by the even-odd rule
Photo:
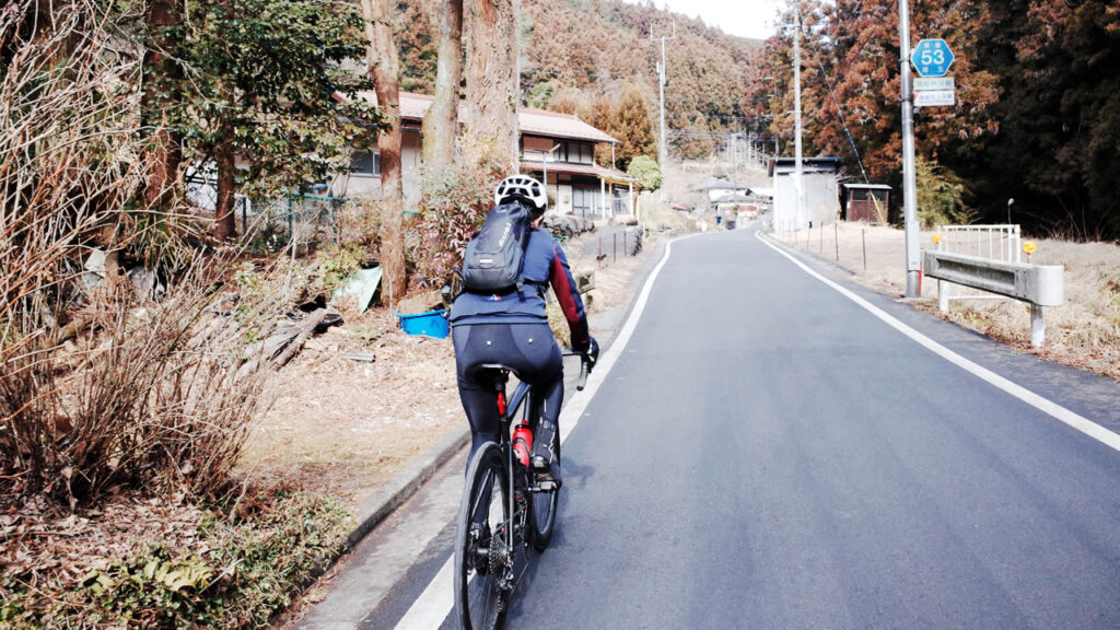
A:
<svg viewBox="0 0 1120 630">
<path fill-rule="evenodd" d="M 470 423 L 470 455 L 486 442 L 497 442 L 501 428 L 494 391 L 474 379 L 486 363 L 501 363 L 532 385 L 543 402 L 536 444 L 550 444 L 563 402 L 563 359 L 552 330 L 540 324 L 459 324 L 452 332 L 459 399 Z M 533 448 L 534 453 L 538 450 Z M 468 460 L 469 462 L 469 460 Z"/>
</svg>

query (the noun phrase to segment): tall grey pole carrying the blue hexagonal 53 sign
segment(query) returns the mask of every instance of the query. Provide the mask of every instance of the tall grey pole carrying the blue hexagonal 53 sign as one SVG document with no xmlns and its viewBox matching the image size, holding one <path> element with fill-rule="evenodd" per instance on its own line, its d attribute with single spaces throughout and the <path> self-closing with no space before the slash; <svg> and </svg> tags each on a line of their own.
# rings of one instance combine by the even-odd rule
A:
<svg viewBox="0 0 1120 630">
<path fill-rule="evenodd" d="M 917 233 L 917 174 L 914 167 L 914 90 L 911 78 L 909 0 L 898 1 L 898 57 L 903 84 L 903 221 L 906 240 L 906 297 L 918 297 L 921 251 Z"/>
</svg>

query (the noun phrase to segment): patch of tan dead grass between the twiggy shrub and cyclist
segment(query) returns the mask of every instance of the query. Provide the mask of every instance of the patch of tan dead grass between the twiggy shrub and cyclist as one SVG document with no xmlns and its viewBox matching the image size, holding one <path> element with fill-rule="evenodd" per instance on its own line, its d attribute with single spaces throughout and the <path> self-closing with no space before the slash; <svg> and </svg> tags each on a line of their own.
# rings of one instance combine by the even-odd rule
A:
<svg viewBox="0 0 1120 630">
<path fill-rule="evenodd" d="M 346 315 L 262 392 L 274 399 L 240 469 L 291 481 L 352 510 L 463 419 L 450 340 L 405 335 L 385 309 Z M 375 340 L 370 337 L 380 331 Z M 372 352 L 374 362 L 344 352 Z"/>
</svg>

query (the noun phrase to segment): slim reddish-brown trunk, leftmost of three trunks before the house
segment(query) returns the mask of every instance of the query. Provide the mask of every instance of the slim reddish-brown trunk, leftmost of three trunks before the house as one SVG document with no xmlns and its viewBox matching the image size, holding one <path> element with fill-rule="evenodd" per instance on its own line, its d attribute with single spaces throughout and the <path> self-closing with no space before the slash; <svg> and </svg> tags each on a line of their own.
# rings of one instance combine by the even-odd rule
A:
<svg viewBox="0 0 1120 630">
<path fill-rule="evenodd" d="M 392 29 L 390 0 L 362 0 L 370 76 L 377 93 L 377 106 L 391 123 L 377 135 L 381 154 L 381 268 L 383 302 L 392 306 L 404 296 L 404 188 L 401 182 L 401 115 L 399 64 Z M 388 299 L 386 299 L 388 298 Z"/>
</svg>

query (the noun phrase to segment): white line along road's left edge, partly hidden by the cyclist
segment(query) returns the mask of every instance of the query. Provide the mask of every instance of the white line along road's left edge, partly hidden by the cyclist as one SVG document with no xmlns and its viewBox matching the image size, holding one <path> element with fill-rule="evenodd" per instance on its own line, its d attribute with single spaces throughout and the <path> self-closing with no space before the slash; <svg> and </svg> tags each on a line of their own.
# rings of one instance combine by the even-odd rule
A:
<svg viewBox="0 0 1120 630">
<path fill-rule="evenodd" d="M 653 290 L 653 284 L 656 281 L 662 268 L 665 267 L 665 262 L 669 261 L 673 242 L 670 241 L 665 244 L 665 254 L 657 262 L 657 266 L 653 268 L 645 285 L 643 285 L 642 293 L 638 295 L 637 302 L 634 303 L 634 309 L 631 312 L 626 323 L 623 324 L 622 330 L 618 331 L 618 336 L 612 342 L 610 348 L 599 356 L 599 364 L 595 368 L 595 371 L 587 377 L 587 387 L 584 388 L 584 391 L 573 393 L 568 405 L 563 408 L 563 411 L 561 411 L 561 443 L 568 438 L 571 429 L 579 424 L 579 418 L 587 410 L 588 402 L 595 397 L 595 392 L 598 391 L 599 386 L 606 380 L 610 369 L 626 349 L 627 342 L 629 342 L 631 336 L 634 334 L 634 328 L 637 327 L 637 321 L 642 316 L 642 312 L 645 311 L 646 303 L 650 300 L 650 291 Z M 454 556 L 444 563 L 436 577 L 424 587 L 423 593 L 417 597 L 417 601 L 412 602 L 412 606 L 409 608 L 409 611 L 396 623 L 396 630 L 435 630 L 447 619 L 451 609 L 455 608 L 455 596 L 451 592 L 455 589 L 452 564 L 455 564 Z"/>
</svg>

